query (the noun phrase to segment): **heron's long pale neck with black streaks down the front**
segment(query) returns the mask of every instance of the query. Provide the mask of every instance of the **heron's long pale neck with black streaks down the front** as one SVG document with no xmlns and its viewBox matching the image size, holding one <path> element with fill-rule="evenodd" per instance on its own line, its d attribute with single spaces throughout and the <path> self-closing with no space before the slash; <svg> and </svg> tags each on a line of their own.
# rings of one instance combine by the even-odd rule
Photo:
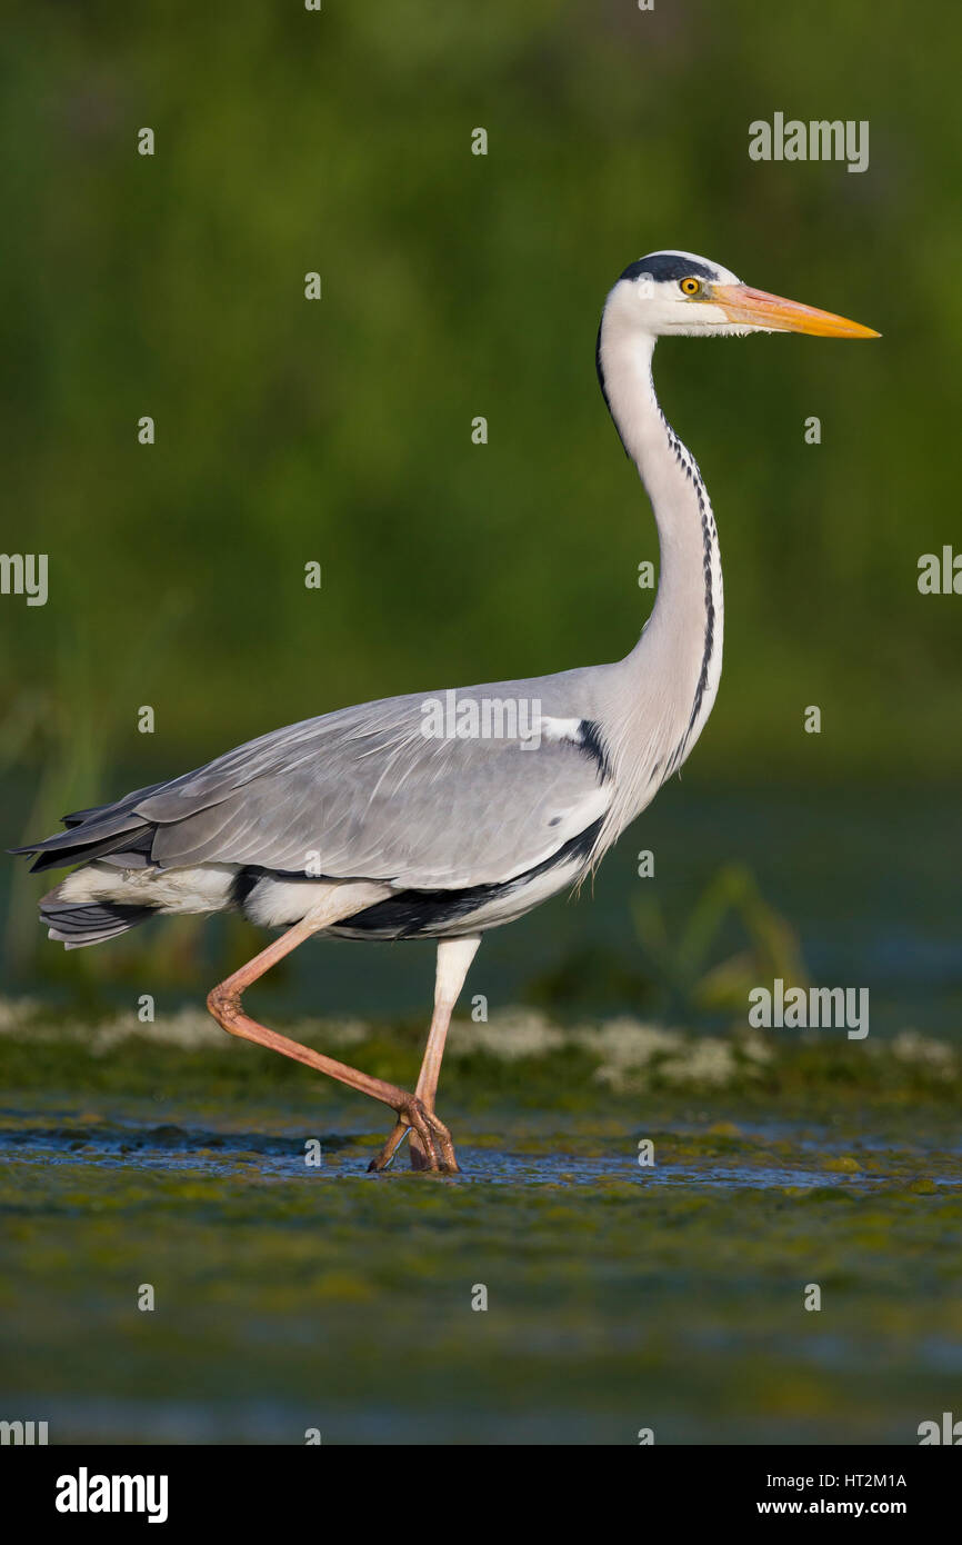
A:
<svg viewBox="0 0 962 1545">
<path fill-rule="evenodd" d="M 599 377 L 618 433 L 652 501 L 661 553 L 655 607 L 621 666 L 636 705 L 624 732 L 625 759 L 647 762 L 650 793 L 642 803 L 681 766 L 712 711 L 721 675 L 724 615 L 712 505 L 695 457 L 658 406 L 653 351 L 655 338 L 619 328 L 618 318 L 608 321 L 605 314 L 598 338 Z M 642 737 L 647 737 L 644 749 Z"/>
</svg>

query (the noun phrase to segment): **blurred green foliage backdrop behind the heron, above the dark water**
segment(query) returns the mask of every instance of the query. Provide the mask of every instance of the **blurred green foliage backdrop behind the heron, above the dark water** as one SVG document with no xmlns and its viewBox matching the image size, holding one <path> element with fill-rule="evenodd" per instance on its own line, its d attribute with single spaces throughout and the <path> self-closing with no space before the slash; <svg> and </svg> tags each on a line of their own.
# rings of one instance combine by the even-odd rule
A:
<svg viewBox="0 0 962 1545">
<path fill-rule="evenodd" d="M 727 592 L 693 797 L 888 789 L 882 845 L 930 808 L 962 760 L 962 603 L 916 584 L 960 531 L 960 40 L 869 0 L 15 6 L 3 545 L 49 601 L 0 604 L 8 839 L 344 703 L 624 654 L 656 539 L 593 348 L 659 246 L 885 335 L 658 351 Z M 775 111 L 868 119 L 869 170 L 752 162 Z"/>
</svg>

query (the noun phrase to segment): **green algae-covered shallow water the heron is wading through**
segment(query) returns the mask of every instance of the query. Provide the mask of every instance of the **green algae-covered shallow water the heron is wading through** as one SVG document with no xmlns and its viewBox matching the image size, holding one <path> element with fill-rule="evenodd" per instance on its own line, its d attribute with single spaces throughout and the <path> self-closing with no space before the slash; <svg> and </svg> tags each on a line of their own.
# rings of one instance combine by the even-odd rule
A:
<svg viewBox="0 0 962 1545">
<path fill-rule="evenodd" d="M 957 1404 L 959 1088 L 894 1054 L 644 1094 L 459 1058 L 460 1177 L 368 1174 L 378 1108 L 249 1048 L 0 1058 L 3 1401 L 51 1441 L 911 1443 Z"/>
</svg>

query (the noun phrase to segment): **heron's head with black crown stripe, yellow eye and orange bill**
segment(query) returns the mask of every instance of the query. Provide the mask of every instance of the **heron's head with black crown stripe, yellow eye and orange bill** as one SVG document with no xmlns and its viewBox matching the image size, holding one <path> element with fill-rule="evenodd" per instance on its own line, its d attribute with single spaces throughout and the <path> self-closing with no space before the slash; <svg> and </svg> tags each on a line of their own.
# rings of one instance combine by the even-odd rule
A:
<svg viewBox="0 0 962 1545">
<path fill-rule="evenodd" d="M 628 264 L 605 304 L 625 331 L 650 338 L 670 334 L 740 335 L 811 332 L 821 338 L 877 338 L 871 328 L 829 311 L 749 289 L 729 269 L 692 252 L 650 252 Z"/>
</svg>

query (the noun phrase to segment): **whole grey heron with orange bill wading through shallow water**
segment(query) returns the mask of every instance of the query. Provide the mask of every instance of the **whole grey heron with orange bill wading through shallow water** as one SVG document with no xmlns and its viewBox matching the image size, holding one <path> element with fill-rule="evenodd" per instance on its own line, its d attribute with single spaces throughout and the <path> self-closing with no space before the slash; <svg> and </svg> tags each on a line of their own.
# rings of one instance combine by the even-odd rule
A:
<svg viewBox="0 0 962 1545">
<path fill-rule="evenodd" d="M 712 505 L 652 383 L 659 337 L 808 332 L 879 337 L 749 289 L 687 252 L 652 252 L 610 290 L 598 377 L 647 490 L 659 541 L 655 606 L 611 664 L 415 692 L 276 729 L 193 772 L 63 817 L 17 853 L 79 864 L 40 901 L 49 938 L 99 944 L 158 913 L 239 910 L 284 932 L 216 986 L 215 1020 L 395 1112 L 422 1170 L 457 1170 L 435 1114 L 445 1037 L 488 929 L 576 885 L 681 768 L 721 674 L 723 592 Z M 315 935 L 437 939 L 434 1014 L 414 1091 L 252 1020 L 244 990 Z"/>
</svg>

